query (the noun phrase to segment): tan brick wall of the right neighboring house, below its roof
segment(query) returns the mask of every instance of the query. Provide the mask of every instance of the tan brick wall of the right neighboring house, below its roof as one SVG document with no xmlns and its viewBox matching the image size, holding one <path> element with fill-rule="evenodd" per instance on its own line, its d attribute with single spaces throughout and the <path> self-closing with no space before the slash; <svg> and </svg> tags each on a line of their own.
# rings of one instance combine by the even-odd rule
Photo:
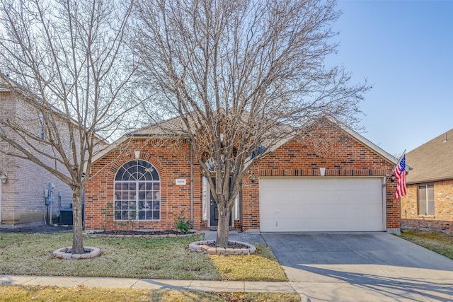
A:
<svg viewBox="0 0 453 302">
<path fill-rule="evenodd" d="M 453 232 L 453 180 L 434 182 L 434 216 L 418 214 L 418 185 L 408 185 L 401 197 L 401 226 Z"/>
</svg>

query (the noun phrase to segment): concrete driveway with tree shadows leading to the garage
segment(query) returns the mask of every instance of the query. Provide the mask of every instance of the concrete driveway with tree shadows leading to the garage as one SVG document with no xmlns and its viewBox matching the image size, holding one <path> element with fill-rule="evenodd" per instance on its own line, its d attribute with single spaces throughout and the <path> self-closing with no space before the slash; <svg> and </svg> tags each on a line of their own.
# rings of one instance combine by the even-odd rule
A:
<svg viewBox="0 0 453 302">
<path fill-rule="evenodd" d="M 388 233 L 262 233 L 302 301 L 453 301 L 453 260 Z"/>
</svg>

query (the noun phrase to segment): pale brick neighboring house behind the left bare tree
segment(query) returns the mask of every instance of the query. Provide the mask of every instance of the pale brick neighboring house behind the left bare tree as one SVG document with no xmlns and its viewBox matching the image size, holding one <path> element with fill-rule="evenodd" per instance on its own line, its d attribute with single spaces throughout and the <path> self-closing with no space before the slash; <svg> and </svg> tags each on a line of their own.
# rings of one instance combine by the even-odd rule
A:
<svg viewBox="0 0 453 302">
<path fill-rule="evenodd" d="M 45 129 L 40 113 L 25 103 L 21 95 L 4 88 L 0 88 L 0 118 L 21 120 L 30 129 L 34 128 L 38 137 L 45 139 Z M 9 131 L 8 135 L 15 134 Z M 9 148 L 6 142 L 0 140 L 1 151 L 7 151 Z M 6 178 L 4 182 L 0 182 L 0 226 L 2 228 L 50 223 L 51 209 L 54 216 L 52 223 L 58 223 L 55 216 L 59 214 L 59 204 L 62 208 L 69 208 L 72 197 L 71 188 L 35 163 L 6 156 L 0 152 L 0 175 Z M 53 202 L 46 204 L 45 190 L 50 188 L 53 188 L 53 192 L 48 196 L 53 198 Z"/>
</svg>

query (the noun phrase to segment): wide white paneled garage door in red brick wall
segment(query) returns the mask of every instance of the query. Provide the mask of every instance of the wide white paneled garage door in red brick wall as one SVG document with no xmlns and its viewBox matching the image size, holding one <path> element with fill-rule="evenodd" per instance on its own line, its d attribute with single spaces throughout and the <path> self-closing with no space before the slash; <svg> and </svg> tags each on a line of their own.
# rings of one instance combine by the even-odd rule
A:
<svg viewBox="0 0 453 302">
<path fill-rule="evenodd" d="M 382 178 L 260 178 L 263 232 L 385 231 Z"/>
</svg>

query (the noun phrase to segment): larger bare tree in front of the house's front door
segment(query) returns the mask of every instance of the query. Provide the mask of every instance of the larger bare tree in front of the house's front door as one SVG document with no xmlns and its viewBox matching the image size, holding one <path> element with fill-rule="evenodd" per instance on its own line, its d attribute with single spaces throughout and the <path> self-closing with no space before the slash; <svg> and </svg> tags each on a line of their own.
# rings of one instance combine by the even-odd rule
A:
<svg viewBox="0 0 453 302">
<path fill-rule="evenodd" d="M 329 42 L 340 16 L 335 5 L 137 1 L 140 75 L 160 103 L 147 111 L 155 121 L 183 121 L 166 131 L 185 132 L 213 188 L 218 246 L 228 244 L 229 216 L 247 167 L 321 115 L 355 122 L 369 87 L 351 85 L 343 67 L 324 63 L 338 47 Z"/>
</svg>

